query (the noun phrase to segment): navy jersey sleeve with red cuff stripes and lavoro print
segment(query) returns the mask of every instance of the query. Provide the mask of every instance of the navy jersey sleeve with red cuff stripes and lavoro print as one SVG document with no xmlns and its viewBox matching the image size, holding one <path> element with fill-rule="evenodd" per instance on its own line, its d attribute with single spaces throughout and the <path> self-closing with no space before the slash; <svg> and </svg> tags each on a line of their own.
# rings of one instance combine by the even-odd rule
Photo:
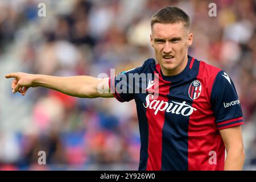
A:
<svg viewBox="0 0 256 182">
<path fill-rule="evenodd" d="M 210 99 L 218 130 L 243 124 L 242 109 L 236 88 L 224 71 L 218 72 Z"/>
</svg>

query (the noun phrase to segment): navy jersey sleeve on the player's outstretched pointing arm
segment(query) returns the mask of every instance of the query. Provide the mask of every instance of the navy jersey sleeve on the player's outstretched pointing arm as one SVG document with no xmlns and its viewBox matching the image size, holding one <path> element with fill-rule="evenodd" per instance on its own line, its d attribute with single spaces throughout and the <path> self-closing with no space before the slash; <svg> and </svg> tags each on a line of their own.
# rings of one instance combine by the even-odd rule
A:
<svg viewBox="0 0 256 182">
<path fill-rule="evenodd" d="M 118 73 L 115 77 L 109 78 L 110 92 L 114 94 L 114 97 L 118 101 L 129 102 L 134 99 L 135 90 L 140 89 L 139 83 L 135 82 L 134 74 L 140 75 L 153 61 L 153 59 L 148 59 L 142 67 L 130 69 L 129 71 Z"/>
</svg>

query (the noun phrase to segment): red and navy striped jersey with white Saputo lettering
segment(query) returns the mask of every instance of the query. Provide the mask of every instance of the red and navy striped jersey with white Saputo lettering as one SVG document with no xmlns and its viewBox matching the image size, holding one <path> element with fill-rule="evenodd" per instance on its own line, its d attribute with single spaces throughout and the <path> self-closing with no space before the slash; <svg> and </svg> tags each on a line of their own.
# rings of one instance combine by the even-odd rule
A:
<svg viewBox="0 0 256 182">
<path fill-rule="evenodd" d="M 139 81 L 129 77 L 142 73 L 146 84 L 143 77 Z M 109 78 L 109 86 L 118 101 L 135 100 L 141 135 L 139 170 L 224 169 L 219 130 L 243 124 L 235 86 L 224 71 L 188 55 L 181 73 L 164 76 L 160 65 L 148 59 L 142 67 Z M 125 92 L 117 92 L 117 86 Z"/>
</svg>

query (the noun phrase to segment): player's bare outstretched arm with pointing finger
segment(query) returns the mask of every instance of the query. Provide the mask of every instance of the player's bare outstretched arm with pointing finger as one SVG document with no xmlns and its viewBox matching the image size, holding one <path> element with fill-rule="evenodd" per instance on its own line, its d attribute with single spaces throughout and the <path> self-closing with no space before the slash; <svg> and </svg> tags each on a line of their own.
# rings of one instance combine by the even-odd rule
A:
<svg viewBox="0 0 256 182">
<path fill-rule="evenodd" d="M 48 75 L 32 75 L 28 73 L 10 73 L 6 78 L 15 78 L 11 84 L 13 93 L 23 96 L 30 87 L 44 86 L 64 94 L 82 98 L 114 97 L 110 93 L 108 78 L 91 76 L 57 77 Z M 103 92 L 105 90 L 105 92 Z"/>
</svg>

